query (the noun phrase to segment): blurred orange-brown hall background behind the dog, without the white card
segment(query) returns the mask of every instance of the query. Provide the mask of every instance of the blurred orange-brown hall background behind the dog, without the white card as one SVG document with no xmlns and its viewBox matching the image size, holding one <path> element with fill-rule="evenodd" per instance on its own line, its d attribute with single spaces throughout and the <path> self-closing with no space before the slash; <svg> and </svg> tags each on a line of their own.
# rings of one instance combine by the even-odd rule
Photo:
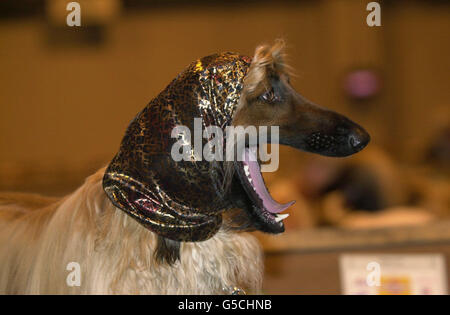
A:
<svg viewBox="0 0 450 315">
<path fill-rule="evenodd" d="M 450 274 L 448 1 L 378 1 L 379 27 L 369 1 L 77 2 L 80 27 L 69 1 L 0 2 L 0 190 L 71 192 L 190 62 L 284 38 L 296 90 L 372 141 L 346 159 L 281 149 L 265 178 L 297 203 L 286 233 L 258 234 L 265 292 L 343 293 L 343 252 L 438 253 Z"/>
</svg>

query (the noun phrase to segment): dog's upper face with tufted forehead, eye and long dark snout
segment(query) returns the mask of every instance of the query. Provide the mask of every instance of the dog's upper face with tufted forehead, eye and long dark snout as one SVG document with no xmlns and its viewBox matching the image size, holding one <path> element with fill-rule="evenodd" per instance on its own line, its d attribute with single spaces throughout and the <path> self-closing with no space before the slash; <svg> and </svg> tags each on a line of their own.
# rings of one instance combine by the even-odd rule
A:
<svg viewBox="0 0 450 315">
<path fill-rule="evenodd" d="M 281 144 L 326 156 L 354 154 L 370 140 L 362 127 L 292 88 L 283 42 L 256 49 L 233 124 L 279 126 Z"/>
</svg>

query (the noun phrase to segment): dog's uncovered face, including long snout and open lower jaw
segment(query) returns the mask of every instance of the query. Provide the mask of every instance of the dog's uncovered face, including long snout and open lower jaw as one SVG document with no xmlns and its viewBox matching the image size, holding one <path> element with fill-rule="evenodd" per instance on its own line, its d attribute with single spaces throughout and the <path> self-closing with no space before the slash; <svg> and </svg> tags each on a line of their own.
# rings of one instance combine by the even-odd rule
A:
<svg viewBox="0 0 450 315">
<path fill-rule="evenodd" d="M 292 88 L 282 42 L 256 49 L 232 124 L 244 128 L 278 126 L 279 143 L 325 156 L 354 154 L 370 140 L 362 127 L 308 101 Z M 282 220 L 287 214 L 280 213 L 293 202 L 279 204 L 270 196 L 260 164 L 245 159 L 254 155 L 255 150 L 250 146 L 245 150 L 244 161 L 234 163 L 235 180 L 231 180 L 234 183 L 231 186 L 232 199 L 238 208 L 245 209 L 249 218 L 242 219 L 245 217 L 242 213 L 234 214 L 230 216 L 231 224 L 270 233 L 283 232 Z"/>
</svg>

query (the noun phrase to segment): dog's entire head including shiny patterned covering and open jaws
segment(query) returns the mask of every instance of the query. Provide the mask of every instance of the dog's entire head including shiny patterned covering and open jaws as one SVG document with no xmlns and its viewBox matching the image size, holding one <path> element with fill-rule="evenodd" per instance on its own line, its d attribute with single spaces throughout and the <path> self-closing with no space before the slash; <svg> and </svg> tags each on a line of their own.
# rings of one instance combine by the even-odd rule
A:
<svg viewBox="0 0 450 315">
<path fill-rule="evenodd" d="M 193 151 L 189 161 L 174 160 L 180 142 L 174 128 L 194 133 L 194 118 L 202 119 L 203 128 L 222 130 L 279 126 L 281 144 L 328 156 L 353 154 L 369 141 L 360 126 L 294 91 L 281 43 L 259 47 L 253 59 L 222 53 L 193 62 L 130 123 L 103 180 L 114 205 L 175 241 L 208 239 L 223 217 L 230 227 L 279 233 L 284 226 L 278 213 L 289 206 L 270 197 L 251 147 L 243 161 L 231 164 L 206 161 Z M 182 140 L 203 146 L 207 138 L 184 134 Z M 223 216 L 236 208 L 239 214 Z"/>
</svg>

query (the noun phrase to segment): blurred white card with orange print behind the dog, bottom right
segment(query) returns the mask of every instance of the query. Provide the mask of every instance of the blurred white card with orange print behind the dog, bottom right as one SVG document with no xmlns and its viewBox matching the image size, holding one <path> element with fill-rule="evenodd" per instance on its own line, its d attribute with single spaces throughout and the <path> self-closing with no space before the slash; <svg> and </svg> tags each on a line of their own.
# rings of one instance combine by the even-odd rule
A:
<svg viewBox="0 0 450 315">
<path fill-rule="evenodd" d="M 343 254 L 343 294 L 447 294 L 440 254 Z"/>
</svg>

